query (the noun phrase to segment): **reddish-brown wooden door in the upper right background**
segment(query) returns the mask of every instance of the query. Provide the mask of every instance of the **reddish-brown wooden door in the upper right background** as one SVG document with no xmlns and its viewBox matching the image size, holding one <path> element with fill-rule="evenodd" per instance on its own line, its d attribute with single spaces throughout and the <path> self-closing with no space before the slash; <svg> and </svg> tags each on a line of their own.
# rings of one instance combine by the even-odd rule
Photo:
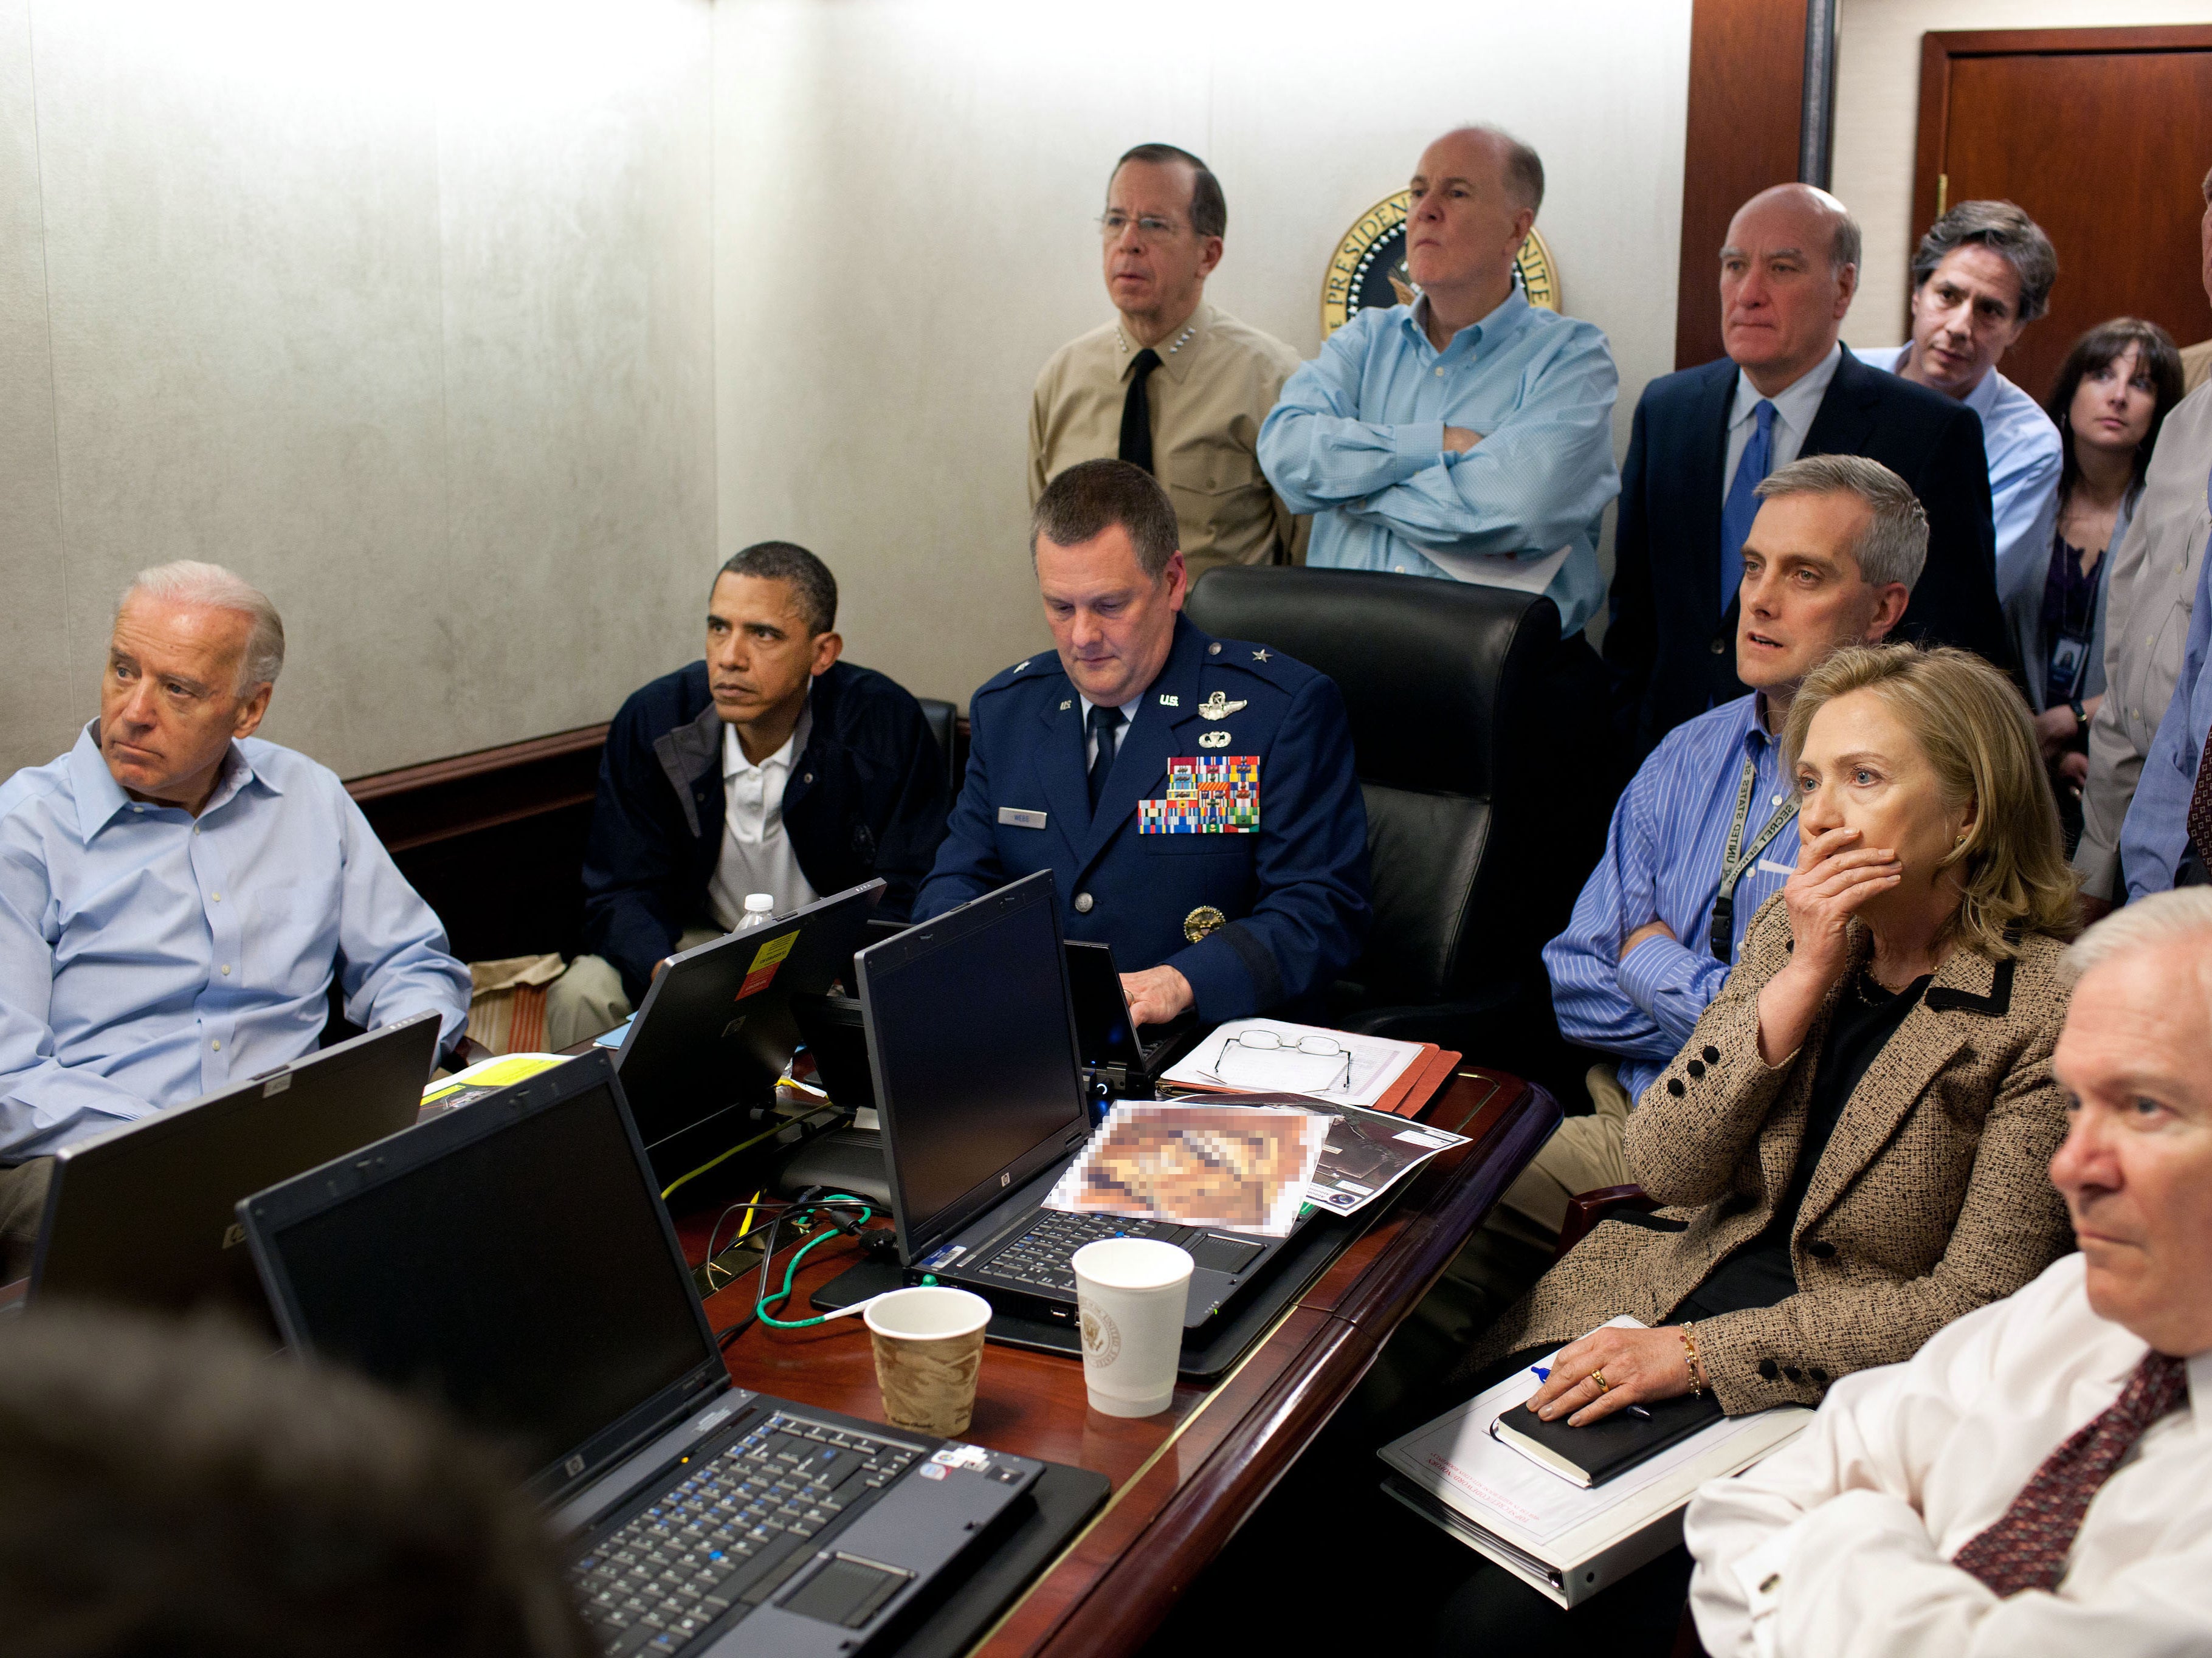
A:
<svg viewBox="0 0 2212 1658">
<path fill-rule="evenodd" d="M 1991 197 L 2044 228 L 2059 252 L 2051 312 L 1997 365 L 2037 400 L 2106 318 L 2146 316 L 2177 345 L 2212 336 L 2208 168 L 2212 27 L 1922 35 L 1913 241 L 1944 206 Z"/>
</svg>

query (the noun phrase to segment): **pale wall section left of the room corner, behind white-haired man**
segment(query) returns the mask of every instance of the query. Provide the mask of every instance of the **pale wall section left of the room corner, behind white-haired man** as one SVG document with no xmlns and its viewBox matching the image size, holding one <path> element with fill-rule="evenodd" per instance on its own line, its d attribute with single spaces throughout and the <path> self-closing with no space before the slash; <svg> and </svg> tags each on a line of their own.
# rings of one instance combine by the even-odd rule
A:
<svg viewBox="0 0 2212 1658">
<path fill-rule="evenodd" d="M 706 0 L 0 0 L 0 772 L 131 570 L 354 776 L 606 718 L 714 548 Z"/>
</svg>

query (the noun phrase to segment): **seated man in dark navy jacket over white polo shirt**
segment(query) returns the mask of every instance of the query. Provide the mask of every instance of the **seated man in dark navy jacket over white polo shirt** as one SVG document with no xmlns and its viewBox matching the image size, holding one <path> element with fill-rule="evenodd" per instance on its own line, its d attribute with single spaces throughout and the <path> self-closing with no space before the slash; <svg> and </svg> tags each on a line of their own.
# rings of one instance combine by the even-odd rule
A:
<svg viewBox="0 0 2212 1658">
<path fill-rule="evenodd" d="M 838 661 L 836 577 L 790 542 L 734 553 L 706 659 L 630 694 L 606 732 L 584 853 L 584 955 L 546 988 L 546 1041 L 644 1001 L 670 951 L 883 875 L 905 917 L 945 838 L 945 754 L 920 703 Z"/>
</svg>

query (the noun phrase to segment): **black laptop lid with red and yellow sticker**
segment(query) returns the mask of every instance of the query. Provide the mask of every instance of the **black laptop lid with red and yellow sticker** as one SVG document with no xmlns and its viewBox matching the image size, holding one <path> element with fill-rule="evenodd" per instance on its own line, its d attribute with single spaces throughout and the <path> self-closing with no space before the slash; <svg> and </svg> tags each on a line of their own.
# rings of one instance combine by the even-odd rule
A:
<svg viewBox="0 0 2212 1658">
<path fill-rule="evenodd" d="M 661 968 L 615 1059 L 646 1145 L 730 1105 L 774 1099 L 776 1072 L 799 1046 L 792 995 L 838 982 L 880 898 L 880 880 L 849 886 Z"/>
</svg>

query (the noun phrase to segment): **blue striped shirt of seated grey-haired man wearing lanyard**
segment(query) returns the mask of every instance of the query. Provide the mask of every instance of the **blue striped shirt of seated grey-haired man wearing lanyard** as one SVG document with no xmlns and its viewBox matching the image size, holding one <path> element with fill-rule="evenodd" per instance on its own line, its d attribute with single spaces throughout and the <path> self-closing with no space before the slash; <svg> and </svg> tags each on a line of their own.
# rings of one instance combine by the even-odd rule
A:
<svg viewBox="0 0 2212 1658">
<path fill-rule="evenodd" d="M 1613 809 L 1606 856 L 1584 882 L 1566 931 L 1544 946 L 1559 1032 L 1619 1054 L 1630 1099 L 1641 1099 L 1690 1041 L 1759 906 L 1796 873 L 1792 818 L 1736 882 L 1730 959 L 1717 959 L 1708 933 L 1745 758 L 1756 776 L 1743 822 L 1750 847 L 1774 809 L 1794 798 L 1781 745 L 1759 723 L 1759 694 L 1668 732 Z M 1624 962 L 1621 944 L 1648 922 L 1666 922 L 1674 937 L 1648 937 Z"/>
</svg>

